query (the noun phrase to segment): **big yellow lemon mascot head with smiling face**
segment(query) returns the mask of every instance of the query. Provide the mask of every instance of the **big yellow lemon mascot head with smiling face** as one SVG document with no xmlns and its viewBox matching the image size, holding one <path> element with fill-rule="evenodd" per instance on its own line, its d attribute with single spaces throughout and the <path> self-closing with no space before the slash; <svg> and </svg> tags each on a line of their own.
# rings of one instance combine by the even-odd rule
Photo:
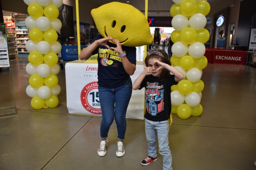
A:
<svg viewBox="0 0 256 170">
<path fill-rule="evenodd" d="M 118 39 L 121 45 L 139 47 L 153 41 L 146 17 L 129 4 L 110 2 L 91 14 L 100 35 Z"/>
</svg>

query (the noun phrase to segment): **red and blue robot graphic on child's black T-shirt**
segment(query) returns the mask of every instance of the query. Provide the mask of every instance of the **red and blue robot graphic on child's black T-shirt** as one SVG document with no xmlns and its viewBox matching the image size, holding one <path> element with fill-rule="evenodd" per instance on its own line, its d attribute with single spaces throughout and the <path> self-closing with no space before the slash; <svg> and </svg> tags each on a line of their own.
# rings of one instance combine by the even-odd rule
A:
<svg viewBox="0 0 256 170">
<path fill-rule="evenodd" d="M 152 116 L 163 110 L 163 94 L 164 90 L 153 88 L 146 90 L 146 109 Z"/>
</svg>

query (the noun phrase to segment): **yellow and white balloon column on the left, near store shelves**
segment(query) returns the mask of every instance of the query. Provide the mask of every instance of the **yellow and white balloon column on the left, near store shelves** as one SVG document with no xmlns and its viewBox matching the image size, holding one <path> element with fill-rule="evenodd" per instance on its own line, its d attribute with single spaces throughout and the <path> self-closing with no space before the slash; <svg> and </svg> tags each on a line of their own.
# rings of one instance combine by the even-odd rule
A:
<svg viewBox="0 0 256 170">
<path fill-rule="evenodd" d="M 26 72 L 30 74 L 26 94 L 32 98 L 34 109 L 58 106 L 60 86 L 56 74 L 60 71 L 58 56 L 61 44 L 56 31 L 62 27 L 57 18 L 62 0 L 24 0 L 28 5 L 26 27 L 30 29 L 30 40 L 26 43 L 29 63 Z"/>
</svg>

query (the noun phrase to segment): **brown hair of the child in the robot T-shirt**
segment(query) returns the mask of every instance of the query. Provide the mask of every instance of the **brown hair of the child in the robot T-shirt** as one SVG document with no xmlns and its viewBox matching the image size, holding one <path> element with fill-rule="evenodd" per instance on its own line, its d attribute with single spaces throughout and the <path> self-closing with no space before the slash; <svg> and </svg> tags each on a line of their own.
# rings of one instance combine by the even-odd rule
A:
<svg viewBox="0 0 256 170">
<path fill-rule="evenodd" d="M 152 51 L 146 58 L 145 58 L 145 64 L 148 67 L 148 60 L 149 59 L 160 59 L 162 63 L 166 63 L 168 65 L 171 65 L 171 62 L 168 58 L 168 54 L 164 50 L 156 50 Z M 162 81 L 166 76 L 170 74 L 170 71 L 166 68 L 162 69 L 162 72 L 159 76 L 159 79 Z"/>
</svg>

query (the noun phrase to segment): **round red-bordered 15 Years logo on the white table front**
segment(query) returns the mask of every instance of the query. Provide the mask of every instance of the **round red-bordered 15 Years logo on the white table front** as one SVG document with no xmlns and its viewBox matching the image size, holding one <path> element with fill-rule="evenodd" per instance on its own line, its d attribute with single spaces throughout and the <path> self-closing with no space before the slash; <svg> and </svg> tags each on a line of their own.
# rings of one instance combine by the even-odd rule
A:
<svg viewBox="0 0 256 170">
<path fill-rule="evenodd" d="M 101 114 L 98 95 L 98 82 L 90 82 L 81 91 L 80 100 L 82 106 L 93 114 Z"/>
</svg>

